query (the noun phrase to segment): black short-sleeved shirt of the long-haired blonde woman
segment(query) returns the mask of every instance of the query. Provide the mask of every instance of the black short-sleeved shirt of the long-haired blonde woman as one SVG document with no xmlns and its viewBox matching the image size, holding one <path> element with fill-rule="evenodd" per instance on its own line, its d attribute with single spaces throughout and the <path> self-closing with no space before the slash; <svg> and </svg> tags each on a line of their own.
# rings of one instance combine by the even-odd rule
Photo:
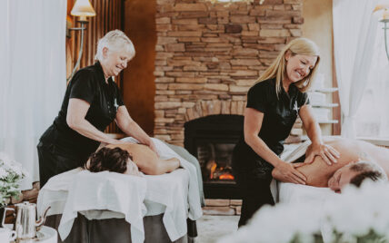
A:
<svg viewBox="0 0 389 243">
<path fill-rule="evenodd" d="M 309 103 L 306 92 L 300 92 L 294 84 L 289 86 L 289 92 L 281 92 L 278 98 L 275 92 L 275 79 L 265 80 L 254 84 L 247 93 L 247 108 L 253 108 L 264 113 L 261 130 L 258 136 L 277 155 L 284 151 L 284 140 L 289 136 L 300 108 Z M 259 125 L 259 124 L 258 124 Z M 259 156 L 244 142 L 243 138 L 238 146 L 245 147 L 249 155 Z M 241 148 L 243 149 L 243 148 Z"/>
</svg>

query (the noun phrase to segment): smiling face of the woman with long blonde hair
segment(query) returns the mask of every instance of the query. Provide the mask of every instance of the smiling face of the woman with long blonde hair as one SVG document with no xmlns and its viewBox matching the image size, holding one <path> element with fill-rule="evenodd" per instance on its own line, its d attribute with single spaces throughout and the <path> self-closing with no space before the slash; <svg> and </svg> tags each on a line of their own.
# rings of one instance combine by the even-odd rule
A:
<svg viewBox="0 0 389 243">
<path fill-rule="evenodd" d="M 317 62 L 315 55 L 285 53 L 286 75 L 291 83 L 301 81 L 311 73 Z"/>
</svg>

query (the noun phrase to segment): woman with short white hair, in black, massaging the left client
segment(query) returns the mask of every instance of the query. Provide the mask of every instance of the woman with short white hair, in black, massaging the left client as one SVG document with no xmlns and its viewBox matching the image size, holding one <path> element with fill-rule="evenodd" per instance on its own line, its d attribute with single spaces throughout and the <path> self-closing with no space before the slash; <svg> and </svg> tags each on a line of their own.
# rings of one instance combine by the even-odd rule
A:
<svg viewBox="0 0 389 243">
<path fill-rule="evenodd" d="M 112 79 L 134 56 L 131 40 L 114 30 L 99 40 L 97 62 L 75 73 L 58 116 L 37 146 L 41 187 L 56 174 L 82 166 L 101 142 L 121 143 L 104 133 L 114 120 L 125 134 L 156 152 L 154 142 L 130 117 Z"/>
</svg>

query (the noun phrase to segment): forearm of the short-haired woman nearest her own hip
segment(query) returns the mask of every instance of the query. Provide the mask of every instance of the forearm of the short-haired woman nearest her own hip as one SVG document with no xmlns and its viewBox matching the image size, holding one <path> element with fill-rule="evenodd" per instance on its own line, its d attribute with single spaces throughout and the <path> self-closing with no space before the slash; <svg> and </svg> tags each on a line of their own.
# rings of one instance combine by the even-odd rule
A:
<svg viewBox="0 0 389 243">
<path fill-rule="evenodd" d="M 94 125 L 92 125 L 89 121 L 86 121 L 85 119 L 80 121 L 68 121 L 67 124 L 71 129 L 77 131 L 81 135 L 91 140 L 112 144 L 119 142 L 115 139 L 108 137 L 103 131 L 97 130 Z"/>
</svg>

